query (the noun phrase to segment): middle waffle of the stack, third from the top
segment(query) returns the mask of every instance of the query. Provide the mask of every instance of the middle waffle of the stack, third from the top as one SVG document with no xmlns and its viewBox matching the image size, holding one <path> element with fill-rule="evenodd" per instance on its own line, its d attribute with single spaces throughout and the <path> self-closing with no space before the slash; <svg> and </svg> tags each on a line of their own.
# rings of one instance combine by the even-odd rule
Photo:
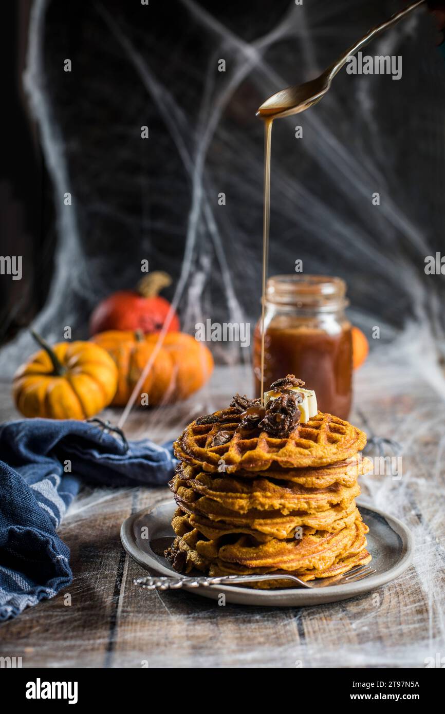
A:
<svg viewBox="0 0 445 714">
<path fill-rule="evenodd" d="M 357 482 L 353 486 L 341 486 L 333 483 L 328 488 L 305 488 L 299 483 L 275 483 L 269 478 L 255 478 L 253 481 L 223 476 L 214 476 L 201 472 L 196 478 L 188 481 L 177 474 L 171 483 L 171 490 L 180 501 L 195 503 L 200 496 L 206 498 L 206 511 L 211 513 L 215 503 L 229 511 L 248 513 L 257 511 L 279 511 L 286 516 L 288 513 L 300 511 L 303 513 L 320 513 L 326 508 L 339 504 L 342 508 L 359 496 L 360 488 Z M 178 502 L 178 501 L 176 501 Z M 197 506 L 198 510 L 201 510 Z"/>
</svg>

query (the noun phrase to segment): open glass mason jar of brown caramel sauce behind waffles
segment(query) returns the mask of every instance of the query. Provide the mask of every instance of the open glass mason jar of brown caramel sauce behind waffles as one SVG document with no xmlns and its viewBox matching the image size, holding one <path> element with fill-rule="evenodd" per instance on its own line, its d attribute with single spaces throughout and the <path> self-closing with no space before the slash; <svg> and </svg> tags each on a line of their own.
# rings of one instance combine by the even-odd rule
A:
<svg viewBox="0 0 445 714">
<path fill-rule="evenodd" d="M 286 374 L 314 389 L 319 410 L 347 419 L 352 398 L 352 333 L 346 283 L 316 275 L 269 278 L 264 317 L 264 391 Z M 254 380 L 261 394 L 261 318 L 254 333 Z"/>
</svg>

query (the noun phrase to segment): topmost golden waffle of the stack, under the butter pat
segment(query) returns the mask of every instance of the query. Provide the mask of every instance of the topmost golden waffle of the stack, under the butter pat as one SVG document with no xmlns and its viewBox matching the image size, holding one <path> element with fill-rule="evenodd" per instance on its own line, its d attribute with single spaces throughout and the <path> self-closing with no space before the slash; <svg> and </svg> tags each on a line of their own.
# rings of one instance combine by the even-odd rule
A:
<svg viewBox="0 0 445 714">
<path fill-rule="evenodd" d="M 281 468 L 324 466 L 344 461 L 361 451 L 366 435 L 347 421 L 319 412 L 307 423 L 298 424 L 286 438 L 265 431 L 239 428 L 241 416 L 234 408 L 214 413 L 214 423 L 193 421 L 174 443 L 180 461 L 201 465 L 204 471 L 264 471 Z M 226 432 L 229 441 L 213 446 Z M 216 438 L 216 436 L 218 438 Z"/>
</svg>

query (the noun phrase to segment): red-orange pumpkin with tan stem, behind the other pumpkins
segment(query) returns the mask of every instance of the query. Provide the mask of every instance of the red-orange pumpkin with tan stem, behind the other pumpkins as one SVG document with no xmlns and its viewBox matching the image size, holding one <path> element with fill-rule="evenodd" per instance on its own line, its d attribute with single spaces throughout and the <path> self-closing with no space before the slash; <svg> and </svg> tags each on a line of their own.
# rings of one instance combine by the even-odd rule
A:
<svg viewBox="0 0 445 714">
<path fill-rule="evenodd" d="M 121 290 L 105 298 L 91 314 L 90 335 L 107 330 L 161 331 L 171 306 L 158 293 L 170 283 L 167 273 L 154 271 L 139 281 L 136 291 Z M 179 318 L 173 313 L 168 330 L 176 332 L 179 329 Z"/>
</svg>

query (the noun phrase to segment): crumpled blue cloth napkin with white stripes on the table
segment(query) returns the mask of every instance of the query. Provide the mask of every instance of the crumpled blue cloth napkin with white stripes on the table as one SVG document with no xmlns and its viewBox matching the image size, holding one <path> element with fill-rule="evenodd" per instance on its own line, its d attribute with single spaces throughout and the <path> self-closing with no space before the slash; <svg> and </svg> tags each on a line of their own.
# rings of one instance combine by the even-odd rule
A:
<svg viewBox="0 0 445 714">
<path fill-rule="evenodd" d="M 71 583 L 69 548 L 56 528 L 81 481 L 161 486 L 173 476 L 171 444 L 127 443 L 104 426 L 51 419 L 0 426 L 0 620 Z"/>
</svg>

